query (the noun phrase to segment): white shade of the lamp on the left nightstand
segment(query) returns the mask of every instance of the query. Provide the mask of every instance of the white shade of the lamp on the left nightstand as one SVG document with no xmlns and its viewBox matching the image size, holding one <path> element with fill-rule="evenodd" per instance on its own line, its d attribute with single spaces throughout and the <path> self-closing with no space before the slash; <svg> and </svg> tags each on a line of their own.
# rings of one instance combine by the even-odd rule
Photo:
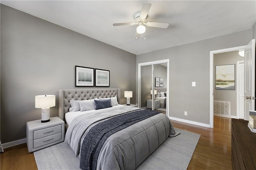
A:
<svg viewBox="0 0 256 170">
<path fill-rule="evenodd" d="M 36 108 L 47 108 L 55 106 L 55 95 L 39 95 L 35 97 Z"/>
</svg>

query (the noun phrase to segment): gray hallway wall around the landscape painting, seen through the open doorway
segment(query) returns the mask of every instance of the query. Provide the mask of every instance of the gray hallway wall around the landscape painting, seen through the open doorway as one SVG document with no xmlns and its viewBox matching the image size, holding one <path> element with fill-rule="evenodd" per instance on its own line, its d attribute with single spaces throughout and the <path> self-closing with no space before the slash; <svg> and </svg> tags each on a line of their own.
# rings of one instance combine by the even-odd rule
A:
<svg viewBox="0 0 256 170">
<path fill-rule="evenodd" d="M 238 51 L 231 51 L 226 53 L 218 53 L 214 54 L 214 77 L 216 76 L 215 69 L 216 65 L 227 65 L 227 64 L 235 64 L 235 76 L 237 75 L 237 61 L 244 61 L 244 57 L 241 57 L 238 54 Z M 235 77 L 236 80 L 236 77 Z M 236 80 L 237 81 L 237 80 Z M 214 81 L 215 87 L 215 81 Z M 229 101 L 230 102 L 230 115 L 236 116 L 236 92 L 238 87 L 235 84 L 235 90 L 216 90 L 214 88 L 214 100 L 217 101 Z"/>
</svg>

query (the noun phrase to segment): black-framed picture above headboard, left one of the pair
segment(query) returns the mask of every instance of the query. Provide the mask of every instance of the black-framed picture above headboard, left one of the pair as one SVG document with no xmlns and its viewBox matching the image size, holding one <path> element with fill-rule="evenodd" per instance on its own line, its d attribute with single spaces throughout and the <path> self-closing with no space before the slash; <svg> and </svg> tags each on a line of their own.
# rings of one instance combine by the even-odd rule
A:
<svg viewBox="0 0 256 170">
<path fill-rule="evenodd" d="M 94 68 L 75 66 L 76 87 L 94 86 Z"/>
</svg>

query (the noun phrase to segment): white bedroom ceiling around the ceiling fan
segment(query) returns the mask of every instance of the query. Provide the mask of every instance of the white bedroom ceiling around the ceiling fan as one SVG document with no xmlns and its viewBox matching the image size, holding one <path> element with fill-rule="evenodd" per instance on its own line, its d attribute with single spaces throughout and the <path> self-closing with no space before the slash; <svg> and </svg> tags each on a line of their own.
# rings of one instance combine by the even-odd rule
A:
<svg viewBox="0 0 256 170">
<path fill-rule="evenodd" d="M 252 28 L 256 1 L 145 1 L 152 4 L 147 21 L 169 23 L 146 27 L 135 40 L 134 22 L 144 1 L 3 1 L 1 3 L 134 54 L 146 53 Z M 144 40 L 146 36 L 146 40 Z"/>
</svg>

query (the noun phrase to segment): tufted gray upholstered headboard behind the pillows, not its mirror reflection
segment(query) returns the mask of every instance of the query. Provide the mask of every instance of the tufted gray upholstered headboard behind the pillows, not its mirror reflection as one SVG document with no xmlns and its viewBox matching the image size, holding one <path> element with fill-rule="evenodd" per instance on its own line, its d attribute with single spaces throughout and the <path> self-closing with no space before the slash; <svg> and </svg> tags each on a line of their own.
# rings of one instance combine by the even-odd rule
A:
<svg viewBox="0 0 256 170">
<path fill-rule="evenodd" d="M 69 111 L 70 100 L 88 100 L 97 97 L 117 97 L 118 103 L 121 99 L 121 89 L 70 89 L 59 91 L 59 117 L 65 120 L 65 113 Z"/>
</svg>

